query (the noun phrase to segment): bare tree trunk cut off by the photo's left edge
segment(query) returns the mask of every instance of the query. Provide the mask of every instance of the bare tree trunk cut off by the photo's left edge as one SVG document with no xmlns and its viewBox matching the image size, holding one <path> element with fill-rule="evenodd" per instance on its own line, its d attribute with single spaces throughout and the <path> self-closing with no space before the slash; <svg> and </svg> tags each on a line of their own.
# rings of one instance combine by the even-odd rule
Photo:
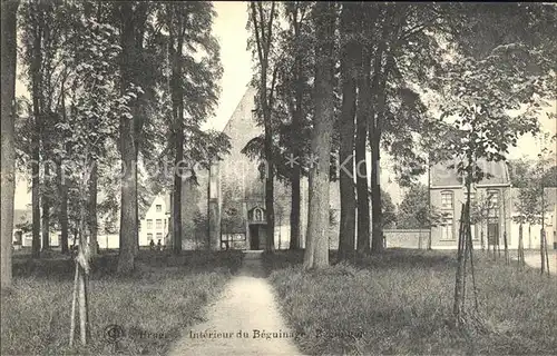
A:
<svg viewBox="0 0 557 356">
<path fill-rule="evenodd" d="M 17 12 L 19 1 L 2 1 L 2 113 L 1 113 L 1 289 L 11 287 L 11 249 L 13 234 L 13 198 L 16 194 L 16 66 Z"/>
</svg>

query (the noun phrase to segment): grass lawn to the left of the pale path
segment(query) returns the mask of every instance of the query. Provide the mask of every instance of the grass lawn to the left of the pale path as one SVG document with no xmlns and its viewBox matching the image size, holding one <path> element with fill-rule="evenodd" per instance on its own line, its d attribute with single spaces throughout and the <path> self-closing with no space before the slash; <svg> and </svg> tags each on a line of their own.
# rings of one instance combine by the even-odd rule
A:
<svg viewBox="0 0 557 356">
<path fill-rule="evenodd" d="M 56 255 L 56 254 L 55 254 Z M 1 297 L 2 355 L 160 355 L 189 325 L 203 320 L 203 306 L 217 297 L 242 263 L 241 251 L 186 251 L 180 256 L 140 251 L 136 271 L 116 278 L 117 256 L 94 260 L 89 280 L 91 342 L 68 347 L 74 264 L 60 256 L 13 259 L 14 288 Z M 105 328 L 127 335 L 116 346 Z"/>
</svg>

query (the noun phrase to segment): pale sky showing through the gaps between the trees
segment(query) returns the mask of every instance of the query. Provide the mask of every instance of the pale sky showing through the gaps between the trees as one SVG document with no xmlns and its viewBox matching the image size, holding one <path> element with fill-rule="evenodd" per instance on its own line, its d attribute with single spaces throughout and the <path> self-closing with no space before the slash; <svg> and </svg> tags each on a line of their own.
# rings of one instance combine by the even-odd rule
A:
<svg viewBox="0 0 557 356">
<path fill-rule="evenodd" d="M 217 16 L 213 23 L 213 33 L 221 43 L 223 77 L 219 85 L 222 91 L 214 117 L 209 118 L 202 128 L 222 130 L 242 99 L 252 78 L 252 55 L 246 49 L 248 36 L 245 29 L 247 22 L 246 3 L 242 1 L 214 1 L 214 7 Z M 18 80 L 16 95 L 21 96 L 25 93 L 27 93 L 26 87 Z M 553 102 L 548 110 L 556 112 L 557 103 Z M 555 119 L 549 120 L 544 116 L 540 118 L 540 125 L 544 131 L 553 135 L 557 131 L 557 120 Z M 526 135 L 519 139 L 518 147 L 510 149 L 510 158 L 522 156 L 535 158 L 538 151 L 538 141 L 531 135 Z M 389 170 L 390 164 L 385 161 L 382 162 L 382 166 L 384 166 L 383 169 Z M 382 178 L 394 181 L 394 179 L 388 179 L 388 177 Z M 427 184 L 426 176 L 422 178 L 424 178 L 423 182 Z M 383 179 L 381 180 L 383 181 Z M 390 184 L 383 184 L 383 188 L 387 190 L 389 190 L 390 186 Z M 400 191 L 395 192 L 392 198 L 395 204 L 399 202 L 401 199 Z M 28 192 L 27 182 L 19 180 L 16 189 L 16 209 L 25 209 L 26 205 L 30 202 L 31 197 Z"/>
</svg>

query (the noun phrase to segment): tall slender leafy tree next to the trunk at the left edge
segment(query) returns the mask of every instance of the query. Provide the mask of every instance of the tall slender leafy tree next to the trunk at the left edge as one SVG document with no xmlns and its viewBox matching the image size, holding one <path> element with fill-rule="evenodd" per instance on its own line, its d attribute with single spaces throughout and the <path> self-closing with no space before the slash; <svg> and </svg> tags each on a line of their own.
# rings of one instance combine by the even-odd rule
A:
<svg viewBox="0 0 557 356">
<path fill-rule="evenodd" d="M 70 20 L 74 6 L 62 7 L 56 1 L 26 2 L 22 10 L 22 59 L 29 79 L 32 97 L 32 128 L 23 132 L 31 136 L 27 149 L 31 164 L 32 202 L 33 202 L 33 255 L 38 256 L 40 241 L 40 219 L 42 218 L 42 248 L 49 248 L 49 235 L 52 226 L 51 209 L 57 200 L 52 177 L 57 169 L 51 167 L 59 161 L 61 137 L 53 129 L 60 121 L 61 82 L 67 79 L 65 51 L 67 31 L 72 26 Z M 40 166 L 43 167 L 41 172 Z M 41 207 L 39 206 L 41 202 Z M 42 217 L 39 217 L 42 208 Z"/>
</svg>

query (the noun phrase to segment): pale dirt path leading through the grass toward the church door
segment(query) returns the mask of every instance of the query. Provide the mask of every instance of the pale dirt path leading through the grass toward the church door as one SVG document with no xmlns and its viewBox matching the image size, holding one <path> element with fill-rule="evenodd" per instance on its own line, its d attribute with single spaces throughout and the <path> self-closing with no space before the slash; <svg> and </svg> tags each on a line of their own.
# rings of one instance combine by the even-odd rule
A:
<svg viewBox="0 0 557 356">
<path fill-rule="evenodd" d="M 302 355 L 278 313 L 261 254 L 245 256 L 238 275 L 208 308 L 207 322 L 187 329 L 169 355 Z"/>
</svg>

